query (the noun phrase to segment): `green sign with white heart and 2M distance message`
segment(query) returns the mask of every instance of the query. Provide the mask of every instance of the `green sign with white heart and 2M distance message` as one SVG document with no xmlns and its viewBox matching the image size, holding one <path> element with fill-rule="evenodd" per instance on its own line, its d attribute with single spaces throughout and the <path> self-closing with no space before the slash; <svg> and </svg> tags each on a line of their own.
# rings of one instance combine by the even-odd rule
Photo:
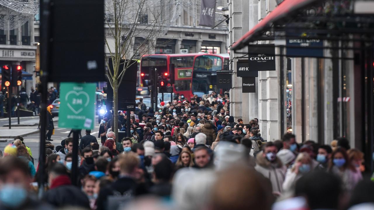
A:
<svg viewBox="0 0 374 210">
<path fill-rule="evenodd" d="M 61 83 L 58 127 L 93 129 L 95 83 Z"/>
</svg>

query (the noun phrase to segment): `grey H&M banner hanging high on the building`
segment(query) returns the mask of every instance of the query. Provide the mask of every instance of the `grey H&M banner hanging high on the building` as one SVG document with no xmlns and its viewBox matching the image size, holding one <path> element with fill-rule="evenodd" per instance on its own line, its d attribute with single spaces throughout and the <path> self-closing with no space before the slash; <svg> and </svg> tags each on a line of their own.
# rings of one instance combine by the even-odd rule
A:
<svg viewBox="0 0 374 210">
<path fill-rule="evenodd" d="M 214 28 L 216 0 L 201 0 L 199 25 Z"/>
</svg>

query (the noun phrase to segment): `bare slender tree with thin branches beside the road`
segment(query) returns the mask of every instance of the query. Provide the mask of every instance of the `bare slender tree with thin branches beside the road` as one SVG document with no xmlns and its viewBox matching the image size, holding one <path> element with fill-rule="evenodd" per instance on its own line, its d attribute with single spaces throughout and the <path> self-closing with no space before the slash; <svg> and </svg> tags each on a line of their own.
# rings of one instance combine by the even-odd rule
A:
<svg viewBox="0 0 374 210">
<path fill-rule="evenodd" d="M 107 71 L 108 85 L 113 88 L 113 132 L 118 136 L 118 88 L 125 72 L 138 59 L 156 47 L 157 38 L 168 31 L 179 13 L 175 0 L 106 0 L 105 43 L 112 59 L 113 72 Z M 135 45 L 135 37 L 141 43 Z M 126 59 L 123 63 L 122 59 Z M 123 68 L 122 68 L 123 65 Z M 121 66 L 121 68 L 120 68 Z M 126 90 L 136 91 L 136 90 Z"/>
</svg>

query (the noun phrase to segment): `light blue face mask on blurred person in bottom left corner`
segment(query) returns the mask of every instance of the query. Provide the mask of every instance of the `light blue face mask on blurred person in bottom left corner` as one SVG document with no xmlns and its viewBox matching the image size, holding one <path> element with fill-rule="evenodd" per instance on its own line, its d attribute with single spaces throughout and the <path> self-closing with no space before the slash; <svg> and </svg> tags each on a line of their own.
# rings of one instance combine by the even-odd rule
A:
<svg viewBox="0 0 374 210">
<path fill-rule="evenodd" d="M 26 198 L 27 191 L 18 185 L 5 184 L 0 190 L 0 201 L 7 207 L 19 207 Z"/>
</svg>

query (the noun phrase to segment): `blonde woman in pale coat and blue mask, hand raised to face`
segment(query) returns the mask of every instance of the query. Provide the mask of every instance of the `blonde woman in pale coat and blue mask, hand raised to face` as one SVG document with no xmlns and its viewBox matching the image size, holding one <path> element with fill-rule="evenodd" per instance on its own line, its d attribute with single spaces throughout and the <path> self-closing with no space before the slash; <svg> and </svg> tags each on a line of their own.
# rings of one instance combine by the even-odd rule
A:
<svg viewBox="0 0 374 210">
<path fill-rule="evenodd" d="M 312 169 L 312 159 L 306 152 L 297 155 L 295 163 L 291 169 L 287 170 L 285 180 L 283 182 L 283 191 L 289 192 L 295 187 L 295 183 L 301 176 L 310 172 Z"/>
</svg>

